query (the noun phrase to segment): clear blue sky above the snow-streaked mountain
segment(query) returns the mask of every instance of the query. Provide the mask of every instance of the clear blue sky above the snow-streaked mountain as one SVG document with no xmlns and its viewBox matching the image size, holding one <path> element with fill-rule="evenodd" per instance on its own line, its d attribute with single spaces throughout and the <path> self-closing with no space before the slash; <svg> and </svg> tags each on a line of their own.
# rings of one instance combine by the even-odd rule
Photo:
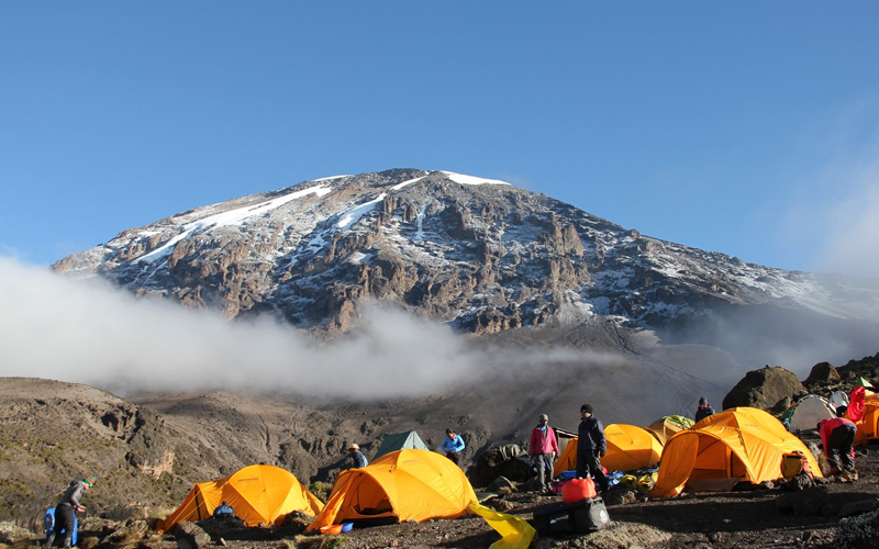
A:
<svg viewBox="0 0 879 549">
<path fill-rule="evenodd" d="M 879 2 L 2 2 L 0 255 L 390 168 L 879 277 Z"/>
</svg>

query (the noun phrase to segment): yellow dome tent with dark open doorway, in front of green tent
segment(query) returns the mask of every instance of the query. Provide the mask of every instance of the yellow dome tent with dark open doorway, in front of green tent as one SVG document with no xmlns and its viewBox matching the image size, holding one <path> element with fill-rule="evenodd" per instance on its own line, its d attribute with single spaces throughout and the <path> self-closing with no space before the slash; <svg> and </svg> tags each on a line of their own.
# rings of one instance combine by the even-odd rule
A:
<svg viewBox="0 0 879 549">
<path fill-rule="evenodd" d="M 347 522 L 456 518 L 474 502 L 470 481 L 448 458 L 429 450 L 397 450 L 361 469 L 343 471 L 308 529 Z"/>
</svg>

